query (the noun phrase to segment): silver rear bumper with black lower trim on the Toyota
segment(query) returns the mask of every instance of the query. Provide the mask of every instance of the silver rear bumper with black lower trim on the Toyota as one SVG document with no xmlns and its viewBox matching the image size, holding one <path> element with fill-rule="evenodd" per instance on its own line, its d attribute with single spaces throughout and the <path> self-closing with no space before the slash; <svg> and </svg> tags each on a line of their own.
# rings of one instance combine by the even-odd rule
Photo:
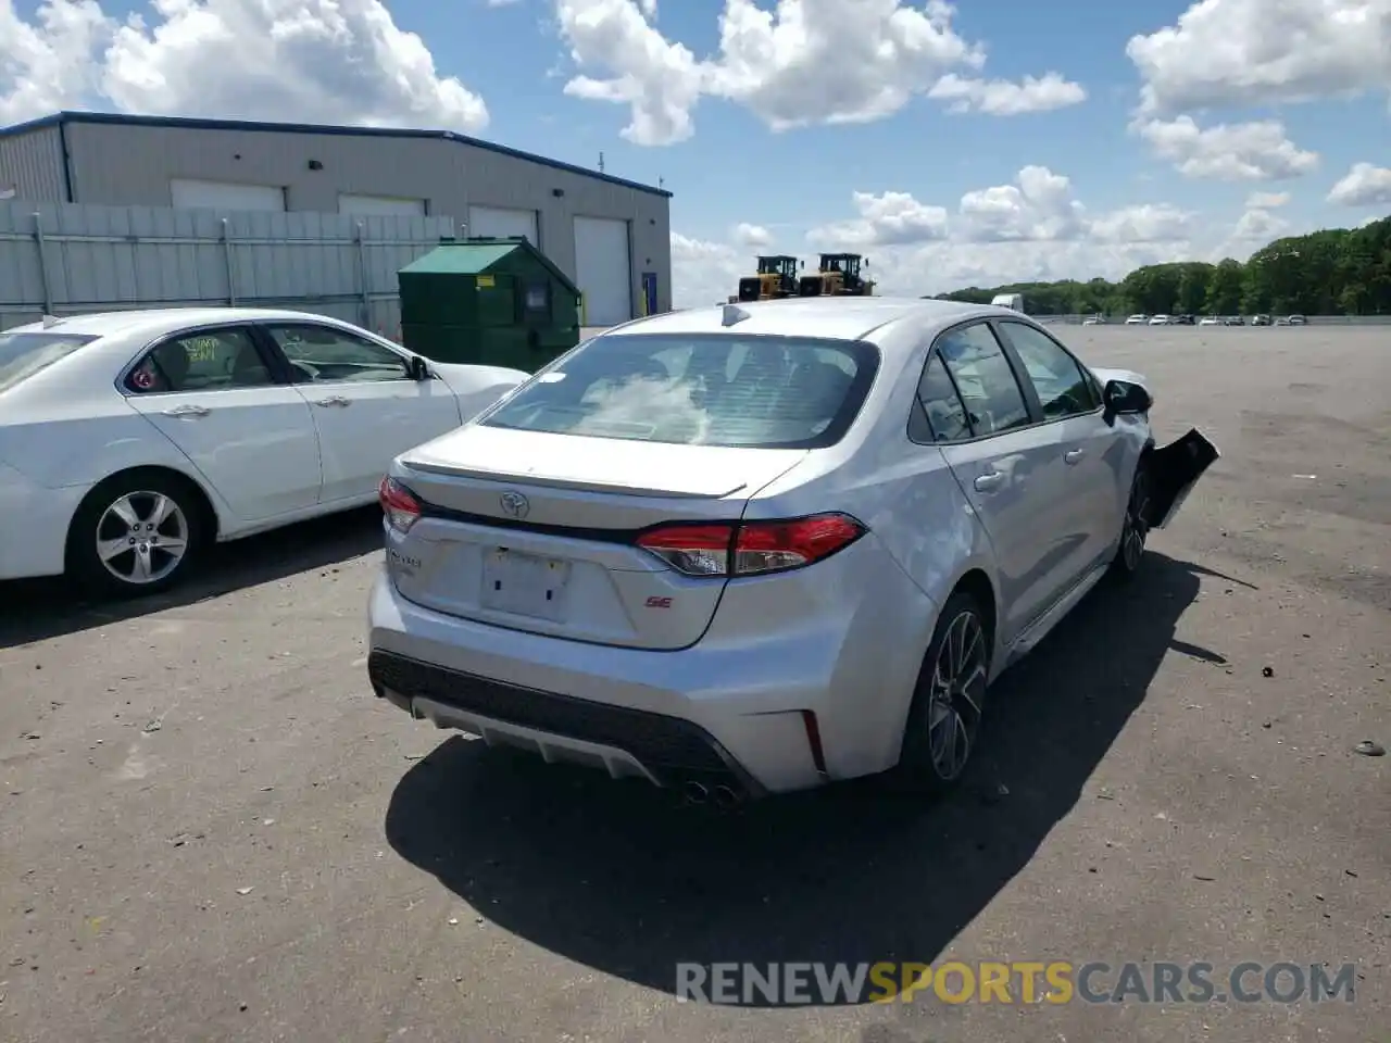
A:
<svg viewBox="0 0 1391 1043">
<path fill-rule="evenodd" d="M 882 656 L 881 676 L 867 673 L 874 649 L 853 617 L 759 640 L 716 630 L 676 652 L 561 640 L 423 608 L 383 570 L 369 674 L 378 697 L 440 727 L 712 798 L 808 789 L 897 759 L 904 686 Z"/>
</svg>

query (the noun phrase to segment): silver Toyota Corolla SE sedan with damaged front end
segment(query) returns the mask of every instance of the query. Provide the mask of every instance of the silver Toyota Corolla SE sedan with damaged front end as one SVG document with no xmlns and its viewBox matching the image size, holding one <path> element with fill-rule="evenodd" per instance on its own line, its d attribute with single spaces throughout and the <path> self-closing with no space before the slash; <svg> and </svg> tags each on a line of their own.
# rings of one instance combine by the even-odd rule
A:
<svg viewBox="0 0 1391 1043">
<path fill-rule="evenodd" d="M 733 804 L 949 787 L 986 688 L 1217 458 L 1018 312 L 815 298 L 581 343 L 381 484 L 376 693 Z"/>
</svg>

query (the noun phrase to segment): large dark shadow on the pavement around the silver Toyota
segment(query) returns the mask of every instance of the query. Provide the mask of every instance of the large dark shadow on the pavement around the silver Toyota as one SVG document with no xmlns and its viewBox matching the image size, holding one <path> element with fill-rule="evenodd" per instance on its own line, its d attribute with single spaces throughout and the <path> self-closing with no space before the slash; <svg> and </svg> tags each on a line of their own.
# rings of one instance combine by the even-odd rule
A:
<svg viewBox="0 0 1391 1043">
<path fill-rule="evenodd" d="M 387 837 L 498 928 L 665 992 L 679 961 L 929 961 L 1078 801 L 1205 572 L 1152 552 L 1132 585 L 1085 598 L 992 687 L 974 770 L 936 802 L 871 780 L 677 809 L 453 737 L 402 777 Z"/>
</svg>

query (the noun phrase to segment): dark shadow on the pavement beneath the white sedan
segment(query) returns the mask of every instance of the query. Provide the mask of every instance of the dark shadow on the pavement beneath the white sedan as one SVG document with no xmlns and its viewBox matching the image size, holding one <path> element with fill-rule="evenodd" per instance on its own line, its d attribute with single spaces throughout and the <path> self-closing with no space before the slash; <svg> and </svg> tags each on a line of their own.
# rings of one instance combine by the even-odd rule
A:
<svg viewBox="0 0 1391 1043">
<path fill-rule="evenodd" d="M 246 587 L 274 583 L 381 548 L 377 505 L 217 544 L 196 574 L 163 594 L 93 599 L 67 580 L 0 583 L 0 649 L 184 608 Z"/>
</svg>

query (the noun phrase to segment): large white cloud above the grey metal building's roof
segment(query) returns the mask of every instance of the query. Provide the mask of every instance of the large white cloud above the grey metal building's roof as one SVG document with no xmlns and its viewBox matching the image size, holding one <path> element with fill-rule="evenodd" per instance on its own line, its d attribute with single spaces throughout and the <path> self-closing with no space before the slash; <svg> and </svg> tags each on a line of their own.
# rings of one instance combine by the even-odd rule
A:
<svg viewBox="0 0 1391 1043">
<path fill-rule="evenodd" d="M 124 111 L 480 131 L 483 99 L 441 76 L 380 0 L 154 0 L 117 25 L 95 0 L 0 0 L 0 118 L 104 99 Z"/>
</svg>

